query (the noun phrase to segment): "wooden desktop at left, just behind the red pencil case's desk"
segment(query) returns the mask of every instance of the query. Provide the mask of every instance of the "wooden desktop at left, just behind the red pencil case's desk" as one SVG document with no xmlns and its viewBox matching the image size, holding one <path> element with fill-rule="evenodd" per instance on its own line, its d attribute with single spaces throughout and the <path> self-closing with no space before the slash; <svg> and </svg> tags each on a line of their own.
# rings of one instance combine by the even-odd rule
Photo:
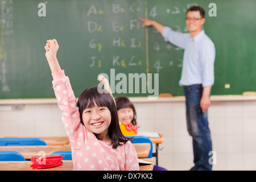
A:
<svg viewBox="0 0 256 182">
<path fill-rule="evenodd" d="M 25 159 L 31 159 L 34 155 L 50 155 L 61 147 L 62 146 L 0 146 L 0 151 L 16 151 L 22 154 Z"/>
</svg>

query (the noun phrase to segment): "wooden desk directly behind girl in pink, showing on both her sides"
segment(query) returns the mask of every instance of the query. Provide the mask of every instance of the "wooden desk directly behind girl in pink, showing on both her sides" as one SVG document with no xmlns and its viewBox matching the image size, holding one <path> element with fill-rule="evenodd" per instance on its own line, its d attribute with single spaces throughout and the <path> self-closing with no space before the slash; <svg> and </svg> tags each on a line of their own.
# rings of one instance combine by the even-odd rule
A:
<svg viewBox="0 0 256 182">
<path fill-rule="evenodd" d="M 146 158 L 150 152 L 150 143 L 133 143 L 138 158 Z M 66 144 L 58 149 L 58 151 L 71 151 L 71 146 Z"/>
</svg>

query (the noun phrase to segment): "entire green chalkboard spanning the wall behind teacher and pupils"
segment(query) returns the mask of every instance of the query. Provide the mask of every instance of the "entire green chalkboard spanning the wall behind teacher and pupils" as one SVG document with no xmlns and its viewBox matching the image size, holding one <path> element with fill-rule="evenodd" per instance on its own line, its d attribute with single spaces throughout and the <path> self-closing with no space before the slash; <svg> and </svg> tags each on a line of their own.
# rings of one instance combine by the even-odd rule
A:
<svg viewBox="0 0 256 182">
<path fill-rule="evenodd" d="M 1 99 L 55 97 L 44 51 L 46 40 L 52 38 L 60 45 L 57 58 L 77 97 L 85 88 L 98 85 L 99 73 L 109 76 L 114 96 L 152 95 L 148 87 L 154 85 L 148 85 L 148 80 L 144 84 L 144 78 L 150 76 L 147 73 L 152 73 L 152 84 L 158 73 L 159 93 L 181 96 L 183 89 L 178 82 L 183 50 L 164 42 L 154 27 L 142 27 L 139 17 L 187 32 L 185 11 L 195 4 L 206 11 L 204 30 L 216 47 L 212 94 L 256 91 L 253 0 L 53 0 L 45 1 L 44 6 L 40 3 L 0 1 Z M 209 3 L 217 5 L 217 16 L 208 15 Z M 136 81 L 141 85 L 139 89 Z"/>
</svg>

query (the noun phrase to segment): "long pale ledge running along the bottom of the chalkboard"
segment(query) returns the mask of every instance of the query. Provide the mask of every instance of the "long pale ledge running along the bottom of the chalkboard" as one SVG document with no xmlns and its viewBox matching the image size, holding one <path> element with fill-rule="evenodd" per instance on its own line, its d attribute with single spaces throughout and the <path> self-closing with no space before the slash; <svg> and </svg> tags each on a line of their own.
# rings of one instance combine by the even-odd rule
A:
<svg viewBox="0 0 256 182">
<path fill-rule="evenodd" d="M 140 102 L 184 102 L 184 96 L 158 97 L 156 100 L 149 100 L 148 97 L 129 97 L 133 103 Z M 226 95 L 210 96 L 211 101 L 256 101 L 256 96 Z M 29 105 L 29 104 L 57 104 L 56 98 L 28 98 L 28 99 L 3 99 L 0 105 Z"/>
</svg>

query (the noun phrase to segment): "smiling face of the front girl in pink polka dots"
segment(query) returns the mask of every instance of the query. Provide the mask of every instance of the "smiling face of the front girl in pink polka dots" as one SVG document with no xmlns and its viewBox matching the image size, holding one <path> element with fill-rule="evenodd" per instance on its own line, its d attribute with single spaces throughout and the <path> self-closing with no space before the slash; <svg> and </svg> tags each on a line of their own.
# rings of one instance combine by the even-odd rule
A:
<svg viewBox="0 0 256 182">
<path fill-rule="evenodd" d="M 82 112 L 82 120 L 86 129 L 94 134 L 98 134 L 98 139 L 104 140 L 106 135 L 108 135 L 111 123 L 111 114 L 108 107 L 97 106 L 94 102 L 94 107 L 86 108 Z"/>
</svg>

